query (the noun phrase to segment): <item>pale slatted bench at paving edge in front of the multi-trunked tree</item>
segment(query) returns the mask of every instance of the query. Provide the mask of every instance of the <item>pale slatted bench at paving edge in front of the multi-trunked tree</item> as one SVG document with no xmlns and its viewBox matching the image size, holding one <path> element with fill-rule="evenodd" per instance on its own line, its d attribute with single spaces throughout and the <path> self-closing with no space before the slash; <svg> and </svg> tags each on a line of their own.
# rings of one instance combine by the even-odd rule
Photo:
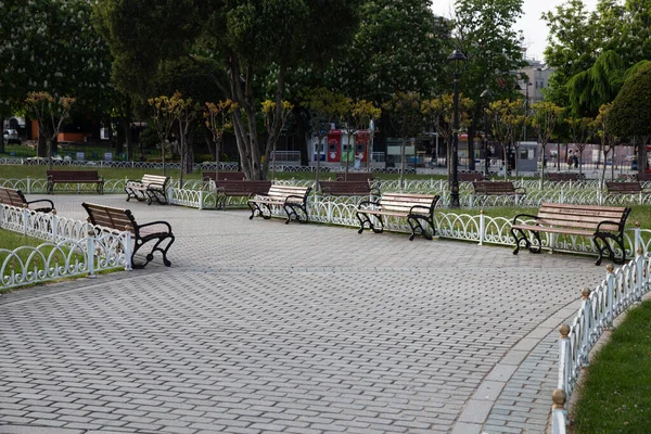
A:
<svg viewBox="0 0 651 434">
<path fill-rule="evenodd" d="M 251 217 L 253 219 L 257 213 L 260 217 L 271 218 L 271 207 L 282 206 L 289 224 L 294 217 L 298 222 L 306 224 L 307 215 L 307 196 L 310 192 L 310 187 L 293 187 L 293 186 L 271 186 L 265 194 L 256 194 L 251 197 L 246 204 L 251 208 Z"/>
</svg>

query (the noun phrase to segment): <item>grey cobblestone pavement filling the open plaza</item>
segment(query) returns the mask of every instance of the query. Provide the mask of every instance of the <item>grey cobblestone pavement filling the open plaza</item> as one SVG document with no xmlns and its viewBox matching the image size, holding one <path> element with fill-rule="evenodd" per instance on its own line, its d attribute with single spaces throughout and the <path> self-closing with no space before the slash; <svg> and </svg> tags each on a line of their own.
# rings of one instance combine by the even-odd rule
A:
<svg viewBox="0 0 651 434">
<path fill-rule="evenodd" d="M 173 266 L 0 296 L 0 433 L 540 433 L 556 330 L 604 275 L 243 210 L 53 200 L 169 221 Z"/>
</svg>

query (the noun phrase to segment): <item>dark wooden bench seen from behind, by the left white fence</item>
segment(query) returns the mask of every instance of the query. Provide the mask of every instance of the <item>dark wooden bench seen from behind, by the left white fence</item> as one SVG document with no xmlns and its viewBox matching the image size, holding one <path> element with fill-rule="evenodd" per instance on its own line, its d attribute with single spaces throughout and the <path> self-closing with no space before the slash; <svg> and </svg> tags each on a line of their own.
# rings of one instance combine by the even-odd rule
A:
<svg viewBox="0 0 651 434">
<path fill-rule="evenodd" d="M 113 208 L 104 205 L 90 203 L 81 204 L 88 213 L 88 221 L 94 226 L 95 233 L 104 231 L 127 231 L 133 237 L 133 251 L 131 253 L 131 267 L 144 268 L 153 258 L 154 252 L 161 252 L 163 264 L 169 267 L 171 263 L 167 259 L 167 251 L 174 243 L 175 237 L 171 233 L 171 226 L 167 221 L 152 221 L 138 225 L 133 214 L 129 209 Z M 144 264 L 136 263 L 136 254 L 146 243 L 152 242 L 152 250 L 145 255 Z"/>
</svg>

